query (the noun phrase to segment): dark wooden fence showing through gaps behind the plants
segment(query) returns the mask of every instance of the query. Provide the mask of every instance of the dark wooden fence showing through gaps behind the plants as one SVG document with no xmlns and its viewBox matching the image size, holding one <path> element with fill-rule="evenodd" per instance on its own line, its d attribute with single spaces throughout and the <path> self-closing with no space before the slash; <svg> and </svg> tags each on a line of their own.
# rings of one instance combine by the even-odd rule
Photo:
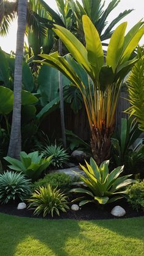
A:
<svg viewBox="0 0 144 256">
<path fill-rule="evenodd" d="M 120 128 L 121 117 L 126 117 L 127 115 L 123 112 L 129 107 L 129 102 L 126 100 L 128 98 L 128 92 L 126 87 L 121 89 L 120 100 L 118 101 L 117 114 L 116 114 L 116 126 Z M 49 137 L 60 137 L 60 110 L 51 113 L 48 118 L 43 123 L 43 130 L 48 134 Z M 77 136 L 81 137 L 85 141 L 90 139 L 90 128 L 87 120 L 87 113 L 85 107 L 83 107 L 77 114 L 74 114 L 73 110 L 68 104 L 65 105 L 65 126 L 68 130 L 73 131 Z"/>
</svg>

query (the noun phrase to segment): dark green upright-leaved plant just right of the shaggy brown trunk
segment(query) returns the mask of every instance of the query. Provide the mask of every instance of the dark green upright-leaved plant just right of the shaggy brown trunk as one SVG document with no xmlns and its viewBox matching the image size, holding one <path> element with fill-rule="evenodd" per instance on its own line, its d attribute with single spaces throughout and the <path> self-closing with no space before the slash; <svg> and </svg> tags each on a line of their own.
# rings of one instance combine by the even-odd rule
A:
<svg viewBox="0 0 144 256">
<path fill-rule="evenodd" d="M 125 169 L 134 172 L 137 165 L 144 161 L 144 139 L 139 139 L 141 134 L 134 119 L 121 119 L 121 130 L 113 134 L 111 139 L 112 159 L 116 166 L 124 164 Z"/>
</svg>

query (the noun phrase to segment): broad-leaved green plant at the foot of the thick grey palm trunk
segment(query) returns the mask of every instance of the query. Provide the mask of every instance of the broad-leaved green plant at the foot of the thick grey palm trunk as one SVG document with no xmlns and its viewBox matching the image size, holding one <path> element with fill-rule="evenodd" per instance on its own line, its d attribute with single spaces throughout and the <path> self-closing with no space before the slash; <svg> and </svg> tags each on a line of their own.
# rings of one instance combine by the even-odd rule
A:
<svg viewBox="0 0 144 256">
<path fill-rule="evenodd" d="M 27 154 L 26 152 L 20 153 L 21 161 L 10 158 L 9 156 L 4 158 L 7 162 L 12 164 L 10 169 L 16 170 L 16 172 L 23 172 L 32 181 L 38 180 L 42 172 L 48 168 L 51 164 L 52 156 L 43 158 L 43 154 L 38 155 L 38 151 Z"/>
</svg>

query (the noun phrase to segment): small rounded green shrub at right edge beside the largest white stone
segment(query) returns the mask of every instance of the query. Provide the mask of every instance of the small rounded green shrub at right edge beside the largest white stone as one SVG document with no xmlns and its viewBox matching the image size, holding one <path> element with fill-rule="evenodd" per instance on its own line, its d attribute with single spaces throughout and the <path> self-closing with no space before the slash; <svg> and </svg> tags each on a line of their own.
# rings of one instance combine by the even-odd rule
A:
<svg viewBox="0 0 144 256">
<path fill-rule="evenodd" d="M 128 202 L 133 209 L 138 211 L 140 208 L 144 208 L 144 180 L 130 186 L 127 192 Z"/>
</svg>

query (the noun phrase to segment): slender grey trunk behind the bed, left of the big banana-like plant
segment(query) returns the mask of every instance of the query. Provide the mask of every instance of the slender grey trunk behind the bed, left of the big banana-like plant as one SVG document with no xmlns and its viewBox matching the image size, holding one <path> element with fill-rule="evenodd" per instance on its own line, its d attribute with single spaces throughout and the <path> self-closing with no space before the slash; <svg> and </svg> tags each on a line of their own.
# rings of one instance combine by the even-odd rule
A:
<svg viewBox="0 0 144 256">
<path fill-rule="evenodd" d="M 59 55 L 62 56 L 62 41 L 59 39 Z M 67 141 L 65 136 L 65 115 L 64 115 L 64 106 L 63 106 L 63 81 L 62 73 L 59 71 L 59 93 L 60 93 L 60 122 L 62 130 L 62 142 L 63 147 L 67 148 Z"/>
</svg>

